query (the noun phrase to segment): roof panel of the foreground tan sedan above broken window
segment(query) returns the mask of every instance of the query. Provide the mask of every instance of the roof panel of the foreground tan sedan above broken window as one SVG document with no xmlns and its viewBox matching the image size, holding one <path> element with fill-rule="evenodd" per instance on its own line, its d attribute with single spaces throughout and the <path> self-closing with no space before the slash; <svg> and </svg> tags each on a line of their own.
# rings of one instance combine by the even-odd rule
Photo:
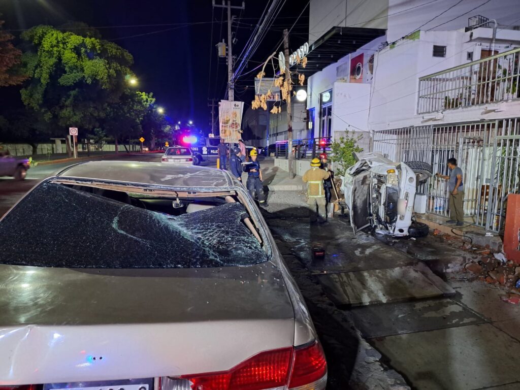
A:
<svg viewBox="0 0 520 390">
<path fill-rule="evenodd" d="M 171 187 L 233 185 L 227 172 L 215 168 L 140 161 L 89 161 L 67 167 L 57 176 Z"/>
</svg>

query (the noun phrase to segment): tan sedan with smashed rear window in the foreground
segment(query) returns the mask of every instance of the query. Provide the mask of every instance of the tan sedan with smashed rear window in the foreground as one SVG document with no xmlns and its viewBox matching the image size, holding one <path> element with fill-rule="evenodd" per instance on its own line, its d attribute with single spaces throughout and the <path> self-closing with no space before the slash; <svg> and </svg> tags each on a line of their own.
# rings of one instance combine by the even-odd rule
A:
<svg viewBox="0 0 520 390">
<path fill-rule="evenodd" d="M 0 388 L 326 387 L 303 297 L 227 171 L 76 164 L 0 237 Z"/>
</svg>

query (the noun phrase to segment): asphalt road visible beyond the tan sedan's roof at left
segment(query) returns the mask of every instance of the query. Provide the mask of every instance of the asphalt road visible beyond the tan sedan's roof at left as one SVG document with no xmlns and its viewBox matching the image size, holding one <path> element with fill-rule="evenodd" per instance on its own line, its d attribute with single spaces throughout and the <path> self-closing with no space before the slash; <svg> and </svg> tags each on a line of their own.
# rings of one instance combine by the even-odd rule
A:
<svg viewBox="0 0 520 390">
<path fill-rule="evenodd" d="M 123 161 L 161 161 L 161 153 L 143 153 L 126 155 L 121 153 L 116 159 Z M 113 159 L 113 158 L 111 158 Z M 91 160 L 102 160 L 102 158 L 93 157 Z M 85 162 L 82 160 L 81 162 Z M 40 183 L 43 179 L 53 176 L 63 170 L 63 168 L 72 165 L 71 162 L 57 163 L 50 165 L 38 165 L 27 171 L 25 180 L 16 181 L 10 177 L 0 177 L 0 216 L 4 215 L 27 191 Z M 211 160 L 203 162 L 205 166 L 216 166 L 216 161 Z"/>
</svg>

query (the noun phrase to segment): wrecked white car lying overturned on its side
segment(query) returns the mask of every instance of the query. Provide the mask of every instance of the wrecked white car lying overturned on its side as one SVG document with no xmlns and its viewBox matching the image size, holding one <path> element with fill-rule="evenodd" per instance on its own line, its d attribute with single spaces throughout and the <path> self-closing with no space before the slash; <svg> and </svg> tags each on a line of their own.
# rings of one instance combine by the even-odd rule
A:
<svg viewBox="0 0 520 390">
<path fill-rule="evenodd" d="M 430 164 L 393 162 L 381 153 L 362 153 L 343 177 L 342 190 L 354 232 L 366 227 L 395 237 L 427 235 L 413 221 L 417 183 L 431 175 Z"/>
</svg>

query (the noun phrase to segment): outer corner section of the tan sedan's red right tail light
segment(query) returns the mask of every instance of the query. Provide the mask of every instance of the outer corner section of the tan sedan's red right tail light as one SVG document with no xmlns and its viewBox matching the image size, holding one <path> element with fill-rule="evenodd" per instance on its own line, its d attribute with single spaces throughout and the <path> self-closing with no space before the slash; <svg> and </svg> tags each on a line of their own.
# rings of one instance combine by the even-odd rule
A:
<svg viewBox="0 0 520 390">
<path fill-rule="evenodd" d="M 310 384 L 316 384 L 309 387 L 314 389 L 325 388 L 327 384 L 327 361 L 318 341 L 309 346 L 294 349 L 294 363 L 289 388 Z"/>
</svg>

